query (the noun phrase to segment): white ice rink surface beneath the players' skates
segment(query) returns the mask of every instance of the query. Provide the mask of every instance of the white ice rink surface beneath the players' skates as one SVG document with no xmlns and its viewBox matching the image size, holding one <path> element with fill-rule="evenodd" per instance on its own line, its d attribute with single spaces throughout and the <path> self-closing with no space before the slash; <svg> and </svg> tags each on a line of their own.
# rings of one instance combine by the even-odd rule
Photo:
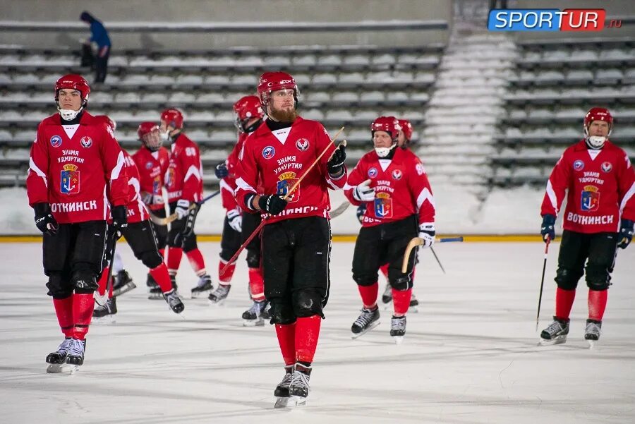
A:
<svg viewBox="0 0 635 424">
<path fill-rule="evenodd" d="M 218 243 L 201 243 L 217 284 Z M 540 329 L 554 307 L 554 243 Z M 540 243 L 446 243 L 422 252 L 404 343 L 381 325 L 352 340 L 361 308 L 351 279 L 352 243 L 334 243 L 332 290 L 303 408 L 274 410 L 282 379 L 274 329 L 242 327 L 250 305 L 243 257 L 223 307 L 189 299 L 182 317 L 147 299 L 145 269 L 119 244 L 137 289 L 118 299 L 116 324 L 92 325 L 85 364 L 47 375 L 44 358 L 63 336 L 46 296 L 39 243 L 0 244 L 0 422 L 176 423 L 635 423 L 635 246 L 619 250 L 603 334 L 583 340 L 581 281 L 567 344 L 536 346 Z M 380 294 L 384 281 L 380 277 Z"/>
</svg>

